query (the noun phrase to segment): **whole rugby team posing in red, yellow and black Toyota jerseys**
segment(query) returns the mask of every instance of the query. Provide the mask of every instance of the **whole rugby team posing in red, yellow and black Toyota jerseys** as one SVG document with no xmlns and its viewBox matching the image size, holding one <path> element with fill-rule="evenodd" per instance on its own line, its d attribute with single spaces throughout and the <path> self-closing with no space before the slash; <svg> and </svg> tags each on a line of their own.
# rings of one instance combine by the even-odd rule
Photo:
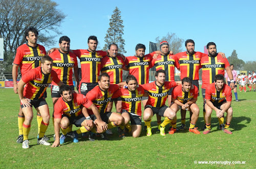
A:
<svg viewBox="0 0 256 169">
<path fill-rule="evenodd" d="M 29 148 L 32 106 L 37 110 L 37 143 L 51 145 L 45 136 L 50 121 L 45 100 L 49 85 L 54 105 L 55 131 L 55 141 L 51 147 L 64 143 L 67 137 L 78 142 L 79 134 L 87 135 L 91 141 L 95 140 L 93 133 L 101 139 L 108 139 L 105 133 L 107 131 L 110 134 L 114 127 L 118 127 L 119 137 L 127 134 L 139 137 L 141 118 L 144 120 L 146 136 L 151 136 L 154 114 L 157 115 L 160 135 L 165 136 L 167 126 L 168 133 L 174 134 L 186 129 L 186 111 L 190 112 L 189 132 L 200 134 L 196 127 L 200 111 L 196 104 L 200 68 L 205 121 L 203 134 L 210 133 L 212 110 L 216 111 L 220 129 L 232 134 L 229 129 L 232 119 L 231 89 L 236 89 L 238 78 L 233 76 L 236 71 L 233 65 L 229 65 L 225 54 L 217 53 L 214 42 L 207 44 L 208 55 L 195 52 L 195 42 L 188 39 L 185 41 L 186 51 L 175 55 L 169 51 L 168 42 L 162 41 L 160 51 L 145 55 L 145 45 L 139 43 L 135 48 L 135 56 L 124 57 L 118 53 L 115 43 L 109 44 L 106 52 L 96 51 L 96 36 L 88 38 L 87 50 L 70 50 L 70 38 L 62 36 L 59 38 L 59 48 L 53 48 L 47 54 L 45 47 L 37 44 L 37 36 L 35 28 L 26 30 L 27 43 L 17 48 L 12 69 L 13 89 L 20 99 L 17 143 L 22 143 L 24 149 Z M 80 74 L 77 57 L 80 59 Z M 156 80 L 149 83 L 149 69 L 153 66 L 156 68 Z M 22 78 L 17 83 L 18 67 Z M 175 82 L 175 67 L 181 72 L 181 81 Z M 129 71 L 126 81 L 122 80 L 122 70 Z M 224 81 L 225 70 L 228 85 Z M 73 72 L 78 91 L 74 90 Z M 234 92 L 238 101 L 237 92 Z M 167 99 L 168 106 L 165 105 Z M 113 103 L 116 113 L 111 111 Z M 141 103 L 144 106 L 143 115 Z M 177 129 L 176 114 L 179 109 L 182 125 Z M 164 117 L 163 121 L 161 116 Z M 72 131 L 72 125 L 79 127 L 78 130 Z"/>
</svg>

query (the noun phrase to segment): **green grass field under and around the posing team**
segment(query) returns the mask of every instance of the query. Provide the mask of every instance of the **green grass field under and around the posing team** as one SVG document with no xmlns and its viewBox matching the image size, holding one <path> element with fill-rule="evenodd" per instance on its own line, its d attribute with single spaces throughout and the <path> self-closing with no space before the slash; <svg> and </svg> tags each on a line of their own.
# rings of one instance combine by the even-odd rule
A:
<svg viewBox="0 0 256 169">
<path fill-rule="evenodd" d="M 52 114 L 52 101 L 48 89 L 47 102 Z M 218 119 L 212 113 L 212 132 L 202 134 L 202 97 L 198 105 L 200 116 L 197 123 L 201 134 L 188 131 L 160 136 L 154 116 L 153 135 L 139 138 L 117 136 L 117 129 L 109 136 L 111 140 L 88 141 L 80 138 L 78 143 L 67 140 L 63 146 L 51 148 L 36 144 L 36 111 L 30 131 L 30 149 L 22 149 L 16 143 L 18 136 L 18 95 L 13 89 L 0 88 L 0 150 L 1 168 L 255 168 L 256 166 L 256 92 L 239 92 L 240 102 L 232 102 L 232 135 L 217 129 Z M 234 95 L 233 95 L 234 98 Z M 234 99 L 233 99 L 234 100 Z M 189 125 L 189 113 L 186 115 Z M 163 119 L 163 118 L 162 118 Z M 47 134 L 53 142 L 52 120 Z M 142 124 L 144 125 L 144 123 Z M 178 123 L 180 125 L 180 113 Z M 75 127 L 73 127 L 73 130 Z M 200 161 L 216 161 L 215 164 L 199 164 Z M 217 161 L 245 161 L 245 164 L 217 164 Z"/>
</svg>

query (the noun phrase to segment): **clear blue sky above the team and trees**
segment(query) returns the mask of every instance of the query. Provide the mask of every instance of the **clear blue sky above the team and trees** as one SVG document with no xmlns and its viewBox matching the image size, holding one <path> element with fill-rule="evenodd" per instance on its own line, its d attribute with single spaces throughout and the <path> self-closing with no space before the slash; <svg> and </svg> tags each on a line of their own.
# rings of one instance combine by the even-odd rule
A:
<svg viewBox="0 0 256 169">
<path fill-rule="evenodd" d="M 109 19 L 118 7 L 124 26 L 125 56 L 133 56 L 138 43 L 145 44 L 149 53 L 149 41 L 155 42 L 156 37 L 169 32 L 184 41 L 193 39 L 195 51 L 204 52 L 204 45 L 215 42 L 217 52 L 226 57 L 236 50 L 239 59 L 256 60 L 256 53 L 251 53 L 256 39 L 256 1 L 53 1 L 67 15 L 53 47 L 58 47 L 59 37 L 66 35 L 71 39 L 71 49 L 88 49 L 87 39 L 95 35 L 97 50 L 101 50 Z"/>
</svg>

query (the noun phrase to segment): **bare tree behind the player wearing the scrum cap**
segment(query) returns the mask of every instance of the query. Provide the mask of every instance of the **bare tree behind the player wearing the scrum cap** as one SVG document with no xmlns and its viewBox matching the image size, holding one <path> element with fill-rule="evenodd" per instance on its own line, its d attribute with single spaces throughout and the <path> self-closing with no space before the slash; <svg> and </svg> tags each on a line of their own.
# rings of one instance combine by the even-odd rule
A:
<svg viewBox="0 0 256 169">
<path fill-rule="evenodd" d="M 160 42 L 167 41 L 169 43 L 169 50 L 173 51 L 174 54 L 182 52 L 183 39 L 177 37 L 175 33 L 167 33 L 166 36 L 163 36 L 161 39 L 158 36 L 156 38 L 157 47 L 160 50 Z"/>
</svg>

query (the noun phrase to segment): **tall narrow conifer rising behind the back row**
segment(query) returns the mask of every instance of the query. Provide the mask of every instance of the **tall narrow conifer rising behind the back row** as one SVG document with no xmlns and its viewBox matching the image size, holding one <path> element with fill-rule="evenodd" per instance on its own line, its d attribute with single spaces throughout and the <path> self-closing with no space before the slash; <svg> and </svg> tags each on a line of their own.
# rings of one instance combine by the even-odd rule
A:
<svg viewBox="0 0 256 169">
<path fill-rule="evenodd" d="M 103 47 L 103 50 L 108 50 L 108 46 L 111 43 L 116 43 L 118 46 L 118 52 L 119 53 L 126 53 L 124 50 L 124 39 L 122 38 L 123 35 L 123 20 L 121 19 L 121 12 L 116 7 L 116 9 L 113 11 L 113 15 L 110 18 L 110 28 L 106 31 L 105 36 L 105 45 Z"/>
</svg>

